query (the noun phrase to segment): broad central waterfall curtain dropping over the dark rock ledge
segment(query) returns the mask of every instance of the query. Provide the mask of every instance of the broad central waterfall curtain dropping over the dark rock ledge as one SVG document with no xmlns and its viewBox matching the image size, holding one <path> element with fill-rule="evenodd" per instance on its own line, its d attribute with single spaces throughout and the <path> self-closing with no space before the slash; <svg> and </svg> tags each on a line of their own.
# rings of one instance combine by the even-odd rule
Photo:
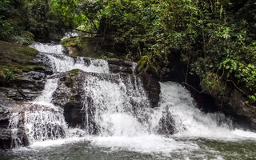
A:
<svg viewBox="0 0 256 160">
<path fill-rule="evenodd" d="M 94 74 L 86 77 L 84 89 L 87 133 L 132 135 L 143 130 L 138 119 L 150 102 L 139 78 Z"/>
</svg>

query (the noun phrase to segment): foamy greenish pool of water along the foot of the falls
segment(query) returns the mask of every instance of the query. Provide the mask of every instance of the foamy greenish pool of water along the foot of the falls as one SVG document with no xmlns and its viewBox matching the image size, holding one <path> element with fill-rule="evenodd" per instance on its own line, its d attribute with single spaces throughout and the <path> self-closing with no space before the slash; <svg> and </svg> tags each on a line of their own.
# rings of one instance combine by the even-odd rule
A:
<svg viewBox="0 0 256 160">
<path fill-rule="evenodd" d="M 156 142 L 158 141 L 159 142 Z M 143 142 L 144 141 L 144 142 Z M 161 144 L 162 143 L 162 144 Z M 2 160 L 9 159 L 243 159 L 256 158 L 253 139 L 220 140 L 178 137 L 88 137 L 36 142 L 18 150 L 0 151 Z"/>
</svg>

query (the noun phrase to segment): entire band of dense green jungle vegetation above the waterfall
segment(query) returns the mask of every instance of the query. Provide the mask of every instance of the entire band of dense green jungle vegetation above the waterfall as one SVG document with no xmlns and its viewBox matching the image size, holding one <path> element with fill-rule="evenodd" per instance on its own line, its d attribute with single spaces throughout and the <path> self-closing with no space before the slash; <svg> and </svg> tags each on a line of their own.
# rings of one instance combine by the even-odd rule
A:
<svg viewBox="0 0 256 160">
<path fill-rule="evenodd" d="M 222 92 L 230 82 L 255 105 L 254 0 L 1 0 L 0 13 L 3 41 L 28 45 L 83 30 L 159 77 L 179 54 L 205 91 Z"/>
</svg>

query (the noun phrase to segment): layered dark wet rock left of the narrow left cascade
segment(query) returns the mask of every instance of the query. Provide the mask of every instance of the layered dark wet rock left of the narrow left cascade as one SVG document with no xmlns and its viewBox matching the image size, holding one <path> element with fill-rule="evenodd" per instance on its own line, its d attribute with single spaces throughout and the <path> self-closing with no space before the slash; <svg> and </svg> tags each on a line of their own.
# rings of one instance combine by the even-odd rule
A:
<svg viewBox="0 0 256 160">
<path fill-rule="evenodd" d="M 3 89 L 7 97 L 16 102 L 30 102 L 37 98 L 44 89 L 46 76 L 53 73 L 49 58 L 43 53 L 37 54 L 28 65 L 32 71 L 15 75 Z"/>
</svg>

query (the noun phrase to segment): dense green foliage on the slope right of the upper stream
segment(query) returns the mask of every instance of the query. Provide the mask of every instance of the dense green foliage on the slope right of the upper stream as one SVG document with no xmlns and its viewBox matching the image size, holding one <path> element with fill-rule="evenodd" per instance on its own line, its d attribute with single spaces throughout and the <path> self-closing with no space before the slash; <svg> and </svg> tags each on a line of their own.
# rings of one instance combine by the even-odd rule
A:
<svg viewBox="0 0 256 160">
<path fill-rule="evenodd" d="M 179 52 L 190 74 L 202 78 L 209 92 L 225 90 L 226 82 L 234 82 L 254 99 L 254 1 L 99 0 L 86 4 L 85 21 L 94 23 L 103 40 L 123 46 L 126 58 L 139 60 L 138 70 L 154 70 L 161 76 L 169 70 L 172 52 Z"/>
</svg>

